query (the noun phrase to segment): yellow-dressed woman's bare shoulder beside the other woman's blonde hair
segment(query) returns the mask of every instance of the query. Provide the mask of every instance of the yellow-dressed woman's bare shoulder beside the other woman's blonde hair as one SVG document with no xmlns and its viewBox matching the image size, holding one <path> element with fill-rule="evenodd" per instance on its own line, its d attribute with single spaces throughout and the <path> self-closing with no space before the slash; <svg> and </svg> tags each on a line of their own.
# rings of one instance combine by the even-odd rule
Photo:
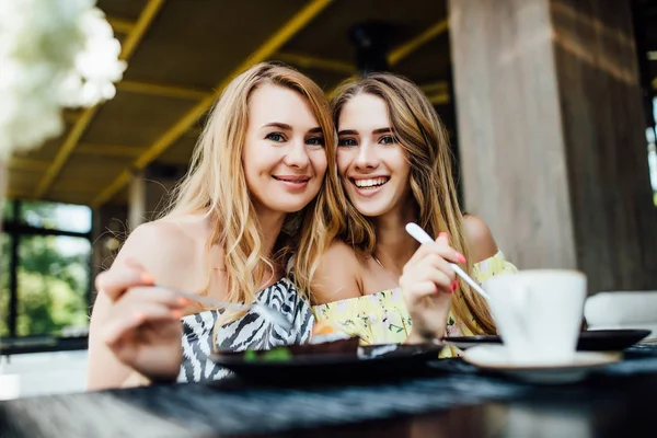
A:
<svg viewBox="0 0 657 438">
<path fill-rule="evenodd" d="M 360 261 L 354 249 L 335 240 L 322 254 L 311 281 L 313 304 L 360 297 Z"/>
</svg>

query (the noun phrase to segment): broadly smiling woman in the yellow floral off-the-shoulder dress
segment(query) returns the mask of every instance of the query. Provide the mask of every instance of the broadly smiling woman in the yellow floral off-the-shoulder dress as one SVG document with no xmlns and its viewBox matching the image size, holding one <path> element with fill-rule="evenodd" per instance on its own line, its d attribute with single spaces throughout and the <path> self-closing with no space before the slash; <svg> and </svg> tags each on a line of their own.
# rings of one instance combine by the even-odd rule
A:
<svg viewBox="0 0 657 438">
<path fill-rule="evenodd" d="M 332 107 L 348 209 L 313 279 L 318 321 L 368 344 L 495 333 L 485 301 L 448 262 L 480 281 L 515 267 L 486 224 L 462 215 L 448 136 L 433 105 L 408 80 L 372 73 L 343 83 Z M 420 246 L 407 222 L 436 243 Z"/>
</svg>

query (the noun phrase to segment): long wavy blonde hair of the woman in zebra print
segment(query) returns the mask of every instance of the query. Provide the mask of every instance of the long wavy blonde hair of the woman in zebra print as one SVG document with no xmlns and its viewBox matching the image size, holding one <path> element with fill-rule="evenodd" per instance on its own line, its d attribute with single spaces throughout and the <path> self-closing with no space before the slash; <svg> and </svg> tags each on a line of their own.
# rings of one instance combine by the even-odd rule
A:
<svg viewBox="0 0 657 438">
<path fill-rule="evenodd" d="M 299 93 L 310 105 L 322 129 L 327 169 L 319 195 L 301 211 L 286 217 L 274 254 L 263 253 L 263 237 L 244 175 L 242 151 L 253 92 L 264 84 Z M 251 302 L 272 278 L 266 269 L 285 266 L 293 253 L 295 280 L 299 292 L 309 296 L 309 278 L 325 250 L 322 237 L 335 235 L 342 227 L 345 203 L 335 159 L 336 135 L 324 93 L 311 79 L 279 62 L 262 62 L 233 79 L 209 113 L 193 153 L 189 171 L 173 192 L 164 217 L 206 215 L 212 224 L 206 251 L 218 245 L 224 251 L 227 299 Z M 210 260 L 208 257 L 208 264 Z M 206 284 L 209 285 L 208 278 Z M 199 291 L 206 293 L 207 290 Z"/>
</svg>

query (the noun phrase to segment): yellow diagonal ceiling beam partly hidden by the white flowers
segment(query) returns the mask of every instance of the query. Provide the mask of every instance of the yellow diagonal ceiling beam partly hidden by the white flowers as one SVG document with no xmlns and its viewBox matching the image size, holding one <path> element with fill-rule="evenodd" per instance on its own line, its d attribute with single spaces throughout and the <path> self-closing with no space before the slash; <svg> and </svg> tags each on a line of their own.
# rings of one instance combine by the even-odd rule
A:
<svg viewBox="0 0 657 438">
<path fill-rule="evenodd" d="M 131 28 L 130 33 L 126 36 L 125 41 L 122 44 L 122 50 L 119 55 L 119 58 L 122 60 L 127 61 L 130 59 L 130 57 L 137 49 L 137 45 L 139 44 L 139 42 L 141 42 L 141 38 L 148 31 L 149 26 L 153 22 L 155 15 L 162 8 L 163 3 L 164 0 L 148 1 L 146 7 L 143 8 L 143 11 L 141 11 L 139 19 L 135 23 L 135 26 Z M 87 127 L 95 116 L 100 105 L 101 104 L 85 108 L 82 112 L 80 118 L 76 120 L 76 124 L 70 129 L 68 136 L 61 145 L 61 148 L 57 152 L 55 160 L 53 160 L 53 164 L 50 165 L 50 168 L 48 168 L 43 178 L 39 181 L 35 192 L 36 198 L 45 196 L 45 194 L 48 192 L 48 189 L 53 185 L 53 182 L 55 181 L 55 178 L 57 178 L 59 172 L 68 161 L 69 155 L 76 149 L 76 146 L 78 146 L 78 141 L 80 140 L 80 138 L 87 130 Z"/>
</svg>

